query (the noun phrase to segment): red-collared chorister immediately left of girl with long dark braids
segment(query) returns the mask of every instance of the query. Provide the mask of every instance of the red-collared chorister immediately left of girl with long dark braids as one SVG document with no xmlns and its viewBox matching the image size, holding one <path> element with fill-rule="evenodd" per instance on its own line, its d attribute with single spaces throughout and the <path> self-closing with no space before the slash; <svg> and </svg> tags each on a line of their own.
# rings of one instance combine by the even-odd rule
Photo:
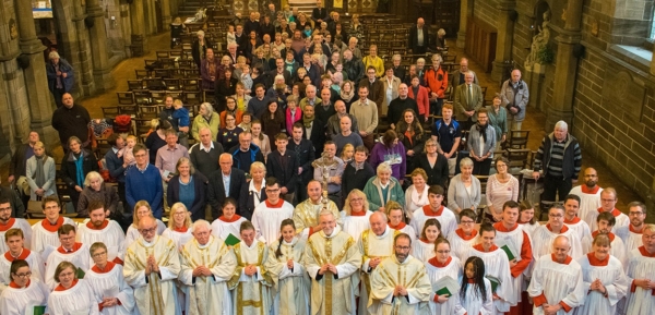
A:
<svg viewBox="0 0 655 315">
<path fill-rule="evenodd" d="M 462 279 L 462 262 L 460 258 L 451 256 L 452 250 L 448 240 L 441 238 L 437 240 L 436 251 L 437 255 L 428 259 L 426 265 L 426 271 L 431 283 L 437 283 L 444 277 L 458 281 Z M 461 286 L 457 286 L 460 289 Z M 433 288 L 440 290 L 441 288 Z M 491 295 L 489 295 L 491 300 Z M 446 294 L 436 294 L 434 290 L 430 291 L 430 314 L 455 314 L 462 315 L 466 313 L 466 310 L 462 307 L 460 302 L 460 291 L 451 292 L 450 296 Z"/>
</svg>

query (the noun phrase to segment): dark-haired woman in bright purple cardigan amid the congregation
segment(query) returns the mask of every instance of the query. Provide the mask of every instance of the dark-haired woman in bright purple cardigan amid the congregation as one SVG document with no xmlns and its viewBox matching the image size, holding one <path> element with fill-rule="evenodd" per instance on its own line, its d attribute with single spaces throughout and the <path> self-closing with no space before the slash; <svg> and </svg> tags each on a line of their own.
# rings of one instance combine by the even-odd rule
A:
<svg viewBox="0 0 655 315">
<path fill-rule="evenodd" d="M 382 136 L 382 142 L 373 146 L 369 161 L 373 169 L 382 162 L 388 162 L 391 166 L 392 175 L 398 180 L 401 184 L 405 180 L 407 173 L 405 146 L 398 141 L 395 131 L 388 130 Z"/>
</svg>

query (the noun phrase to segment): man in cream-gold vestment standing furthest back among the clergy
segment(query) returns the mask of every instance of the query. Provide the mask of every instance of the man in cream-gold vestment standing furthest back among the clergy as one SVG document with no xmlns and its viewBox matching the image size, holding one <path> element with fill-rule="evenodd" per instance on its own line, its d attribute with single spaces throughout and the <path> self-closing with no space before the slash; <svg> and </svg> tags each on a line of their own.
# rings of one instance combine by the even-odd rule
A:
<svg viewBox="0 0 655 315">
<path fill-rule="evenodd" d="M 321 230 L 319 227 L 319 213 L 323 210 L 323 207 L 335 215 L 338 226 L 343 226 L 336 204 L 327 198 L 327 196 L 323 196 L 322 192 L 321 183 L 317 180 L 311 180 L 307 184 L 307 195 L 309 198 L 298 204 L 294 209 L 294 223 L 296 225 L 296 233 L 299 238 L 307 240 L 309 235 Z M 323 201 L 327 201 L 327 203 L 323 204 Z"/>
</svg>

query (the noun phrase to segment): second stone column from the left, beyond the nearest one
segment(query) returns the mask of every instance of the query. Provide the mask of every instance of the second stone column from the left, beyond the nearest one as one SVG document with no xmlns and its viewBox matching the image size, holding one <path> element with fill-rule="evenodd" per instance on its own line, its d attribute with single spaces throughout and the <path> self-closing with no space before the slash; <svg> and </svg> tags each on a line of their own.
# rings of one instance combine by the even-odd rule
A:
<svg viewBox="0 0 655 315">
<path fill-rule="evenodd" d="M 94 25 L 88 29 L 91 53 L 93 59 L 93 77 L 97 92 L 105 92 L 114 87 L 111 68 L 109 66 L 109 47 L 103 8 L 98 0 L 86 0 L 86 14 L 93 19 Z"/>
</svg>

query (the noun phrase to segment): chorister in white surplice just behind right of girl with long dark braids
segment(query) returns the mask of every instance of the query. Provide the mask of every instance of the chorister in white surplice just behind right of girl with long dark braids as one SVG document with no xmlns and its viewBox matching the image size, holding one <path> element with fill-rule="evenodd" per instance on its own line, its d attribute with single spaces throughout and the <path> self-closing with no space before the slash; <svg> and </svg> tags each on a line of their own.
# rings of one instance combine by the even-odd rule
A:
<svg viewBox="0 0 655 315">
<path fill-rule="evenodd" d="M 502 314 L 503 312 L 510 312 L 510 306 L 513 299 L 515 298 L 514 286 L 512 282 L 512 275 L 510 269 L 510 261 L 505 252 L 499 249 L 496 243 L 496 229 L 489 223 L 483 223 L 480 226 L 480 243 L 474 245 L 466 259 L 471 256 L 477 256 L 485 262 L 486 276 L 492 276 L 500 281 L 493 292 L 493 296 L 499 299 L 493 301 L 493 313 Z"/>
</svg>

